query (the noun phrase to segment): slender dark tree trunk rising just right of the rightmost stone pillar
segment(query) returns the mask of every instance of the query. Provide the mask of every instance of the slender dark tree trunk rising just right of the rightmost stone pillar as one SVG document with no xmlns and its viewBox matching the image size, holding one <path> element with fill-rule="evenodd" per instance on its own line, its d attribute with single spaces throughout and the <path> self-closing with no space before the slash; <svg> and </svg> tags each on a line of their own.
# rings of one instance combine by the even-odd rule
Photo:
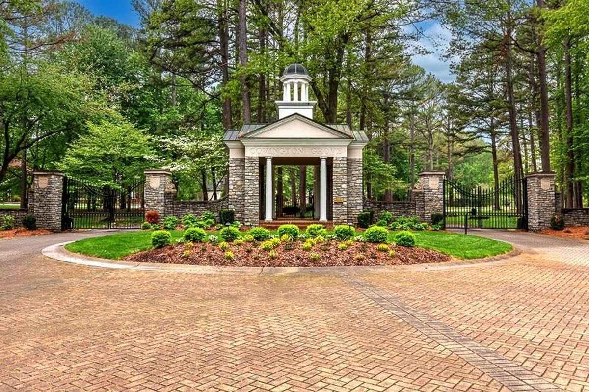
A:
<svg viewBox="0 0 589 392">
<path fill-rule="evenodd" d="M 570 41 L 564 41 L 564 67 L 565 67 L 565 105 L 567 113 L 567 200 L 565 207 L 573 208 L 575 205 L 575 151 L 573 139 L 573 94 L 571 87 L 571 46 Z"/>
</svg>

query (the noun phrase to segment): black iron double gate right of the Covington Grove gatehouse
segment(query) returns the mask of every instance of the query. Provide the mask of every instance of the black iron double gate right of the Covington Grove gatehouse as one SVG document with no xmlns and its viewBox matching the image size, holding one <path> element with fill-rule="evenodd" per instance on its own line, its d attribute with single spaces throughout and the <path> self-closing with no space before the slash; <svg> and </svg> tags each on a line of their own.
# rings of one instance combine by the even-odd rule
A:
<svg viewBox="0 0 589 392">
<path fill-rule="evenodd" d="M 444 180 L 446 228 L 528 228 L 527 180 L 508 178 L 497 187 L 466 189 Z"/>
</svg>

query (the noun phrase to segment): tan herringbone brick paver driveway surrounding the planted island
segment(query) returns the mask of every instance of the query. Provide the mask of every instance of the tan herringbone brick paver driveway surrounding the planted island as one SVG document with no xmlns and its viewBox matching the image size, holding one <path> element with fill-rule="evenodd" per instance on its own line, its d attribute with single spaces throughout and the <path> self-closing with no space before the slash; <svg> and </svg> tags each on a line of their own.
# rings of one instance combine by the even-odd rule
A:
<svg viewBox="0 0 589 392">
<path fill-rule="evenodd" d="M 589 390 L 589 245 L 485 232 L 501 263 L 194 275 L 0 241 L 0 390 Z M 532 248 L 535 250 L 532 253 Z"/>
</svg>

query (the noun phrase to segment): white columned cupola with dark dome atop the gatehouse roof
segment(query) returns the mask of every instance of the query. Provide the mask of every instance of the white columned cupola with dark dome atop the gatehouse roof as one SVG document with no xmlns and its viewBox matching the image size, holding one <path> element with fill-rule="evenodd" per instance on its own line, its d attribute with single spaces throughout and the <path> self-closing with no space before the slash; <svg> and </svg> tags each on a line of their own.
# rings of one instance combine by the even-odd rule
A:
<svg viewBox="0 0 589 392">
<path fill-rule="evenodd" d="M 284 68 L 282 77 L 282 101 L 276 101 L 278 119 L 298 113 L 313 118 L 313 108 L 317 101 L 309 101 L 309 82 L 307 69 L 301 64 L 290 64 Z"/>
</svg>

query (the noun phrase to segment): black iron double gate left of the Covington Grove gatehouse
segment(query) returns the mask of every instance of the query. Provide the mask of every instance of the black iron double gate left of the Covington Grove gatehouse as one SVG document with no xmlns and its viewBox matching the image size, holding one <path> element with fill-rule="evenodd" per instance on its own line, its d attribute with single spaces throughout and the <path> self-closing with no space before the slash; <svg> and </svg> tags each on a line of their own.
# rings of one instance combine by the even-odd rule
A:
<svg viewBox="0 0 589 392">
<path fill-rule="evenodd" d="M 145 180 L 118 187 L 92 185 L 80 178 L 65 177 L 61 227 L 141 228 L 145 220 Z"/>
</svg>

